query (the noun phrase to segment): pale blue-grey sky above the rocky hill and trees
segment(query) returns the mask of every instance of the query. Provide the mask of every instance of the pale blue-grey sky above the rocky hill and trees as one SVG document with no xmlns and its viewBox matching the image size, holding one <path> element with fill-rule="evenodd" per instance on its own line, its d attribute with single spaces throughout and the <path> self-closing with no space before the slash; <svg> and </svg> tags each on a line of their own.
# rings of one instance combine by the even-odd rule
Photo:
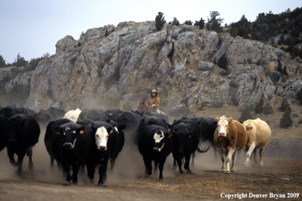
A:
<svg viewBox="0 0 302 201">
<path fill-rule="evenodd" d="M 6 63 L 19 53 L 28 62 L 45 53 L 55 54 L 58 40 L 70 35 L 124 21 L 154 21 L 158 12 L 170 22 L 202 19 L 218 11 L 225 23 L 245 15 L 253 22 L 259 13 L 280 14 L 302 6 L 302 0 L 1 0 L 0 55 Z"/>
</svg>

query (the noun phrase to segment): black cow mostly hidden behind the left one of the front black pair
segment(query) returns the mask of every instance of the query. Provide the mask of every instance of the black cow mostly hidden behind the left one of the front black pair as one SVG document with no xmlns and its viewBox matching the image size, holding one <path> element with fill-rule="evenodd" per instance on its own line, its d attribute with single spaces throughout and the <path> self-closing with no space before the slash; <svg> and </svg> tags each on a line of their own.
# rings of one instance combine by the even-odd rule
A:
<svg viewBox="0 0 302 201">
<path fill-rule="evenodd" d="M 44 143 L 46 146 L 46 150 L 50 156 L 50 167 L 53 168 L 53 161 L 55 158 L 56 159 L 56 163 L 59 169 L 62 168 L 62 163 L 61 160 L 59 160 L 59 150 L 56 149 L 55 151 L 57 151 L 57 153 L 55 153 L 57 155 L 57 157 L 54 157 L 54 154 L 51 151 L 51 139 L 53 137 L 53 135 L 55 134 L 55 126 L 60 126 L 63 125 L 65 123 L 71 123 L 72 121 L 69 119 L 58 119 L 58 120 L 54 120 L 54 121 L 50 121 L 46 127 L 46 131 L 45 131 L 45 136 L 44 136 Z"/>
</svg>

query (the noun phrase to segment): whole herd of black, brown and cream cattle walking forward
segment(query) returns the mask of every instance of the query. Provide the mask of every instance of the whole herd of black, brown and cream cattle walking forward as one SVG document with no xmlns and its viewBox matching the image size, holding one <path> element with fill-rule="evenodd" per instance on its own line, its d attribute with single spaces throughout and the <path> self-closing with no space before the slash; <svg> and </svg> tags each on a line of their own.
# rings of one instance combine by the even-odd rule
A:
<svg viewBox="0 0 302 201">
<path fill-rule="evenodd" d="M 259 118 L 239 122 L 225 116 L 213 119 L 194 115 L 169 124 L 167 116 L 151 112 L 95 108 L 66 112 L 51 107 L 36 113 L 24 107 L 1 107 L 0 151 L 7 147 L 10 163 L 17 167 L 19 176 L 25 154 L 29 157 L 28 169 L 33 171 L 33 147 L 38 143 L 40 126 L 46 126 L 44 143 L 50 164 L 53 167 L 56 160 L 68 185 L 78 183 L 78 172 L 86 166 L 90 180 L 94 179 L 98 169 L 98 185 L 104 186 L 108 161 L 112 170 L 124 145 L 138 147 L 146 177 L 152 174 L 154 161 L 155 170 L 159 166 L 161 181 L 164 180 L 164 163 L 170 153 L 174 158 L 173 169 L 178 165 L 178 174 L 183 175 L 184 161 L 184 169 L 191 174 L 190 159 L 192 157 L 194 164 L 195 151 L 204 153 L 209 149 L 199 149 L 205 141 L 212 145 L 216 158 L 217 150 L 220 151 L 224 173 L 235 172 L 236 156 L 241 149 L 247 156 L 245 166 L 251 166 L 252 153 L 255 163 L 258 162 L 256 150 L 260 149 L 259 166 L 263 166 L 264 147 L 271 135 L 269 126 Z M 18 156 L 17 162 L 14 154 Z"/>
</svg>

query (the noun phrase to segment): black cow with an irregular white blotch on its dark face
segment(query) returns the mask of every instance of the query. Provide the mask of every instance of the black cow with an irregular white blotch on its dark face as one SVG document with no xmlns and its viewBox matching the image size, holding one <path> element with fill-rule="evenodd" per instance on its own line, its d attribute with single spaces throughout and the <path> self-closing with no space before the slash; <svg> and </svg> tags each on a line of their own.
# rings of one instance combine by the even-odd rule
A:
<svg viewBox="0 0 302 201">
<path fill-rule="evenodd" d="M 160 125 L 149 125 L 140 129 L 138 150 L 144 160 L 145 177 L 152 175 L 152 161 L 154 160 L 155 170 L 159 164 L 159 180 L 164 181 L 164 164 L 172 149 L 173 139 L 167 128 Z"/>
</svg>

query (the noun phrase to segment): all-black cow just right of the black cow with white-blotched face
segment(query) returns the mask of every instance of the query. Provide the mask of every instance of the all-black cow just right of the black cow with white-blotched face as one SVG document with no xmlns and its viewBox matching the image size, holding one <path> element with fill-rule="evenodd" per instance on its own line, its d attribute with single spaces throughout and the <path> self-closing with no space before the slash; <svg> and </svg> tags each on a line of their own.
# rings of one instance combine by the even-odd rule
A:
<svg viewBox="0 0 302 201">
<path fill-rule="evenodd" d="M 199 144 L 199 133 L 190 123 L 178 123 L 171 127 L 170 133 L 173 137 L 173 158 L 176 160 L 179 168 L 179 175 L 183 175 L 182 159 L 185 157 L 185 170 L 192 174 L 190 170 L 190 158 Z"/>
</svg>

